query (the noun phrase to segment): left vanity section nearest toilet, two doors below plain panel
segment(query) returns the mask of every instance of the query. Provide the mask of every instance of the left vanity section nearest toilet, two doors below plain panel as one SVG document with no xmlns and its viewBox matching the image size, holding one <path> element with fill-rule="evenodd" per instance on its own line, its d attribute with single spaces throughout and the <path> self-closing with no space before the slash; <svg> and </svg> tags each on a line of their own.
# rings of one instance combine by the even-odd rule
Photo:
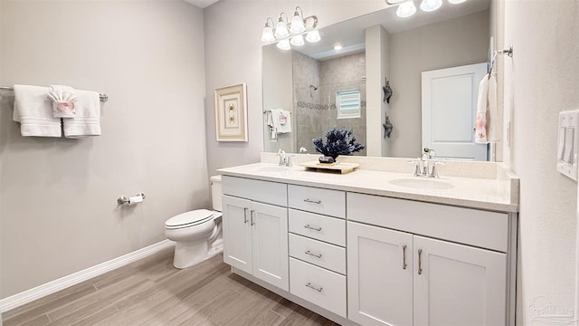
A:
<svg viewBox="0 0 579 326">
<path fill-rule="evenodd" d="M 289 291 L 285 184 L 222 177 L 223 261 Z"/>
</svg>

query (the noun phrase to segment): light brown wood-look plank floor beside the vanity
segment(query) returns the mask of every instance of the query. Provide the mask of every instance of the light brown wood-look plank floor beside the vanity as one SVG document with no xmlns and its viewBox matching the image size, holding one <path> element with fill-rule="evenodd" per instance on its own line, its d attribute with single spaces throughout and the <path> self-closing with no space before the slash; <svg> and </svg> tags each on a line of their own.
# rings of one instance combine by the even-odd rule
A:
<svg viewBox="0 0 579 326">
<path fill-rule="evenodd" d="M 164 251 L 3 313 L 3 326 L 337 325 L 231 273 L 219 254 L 173 267 Z"/>
</svg>

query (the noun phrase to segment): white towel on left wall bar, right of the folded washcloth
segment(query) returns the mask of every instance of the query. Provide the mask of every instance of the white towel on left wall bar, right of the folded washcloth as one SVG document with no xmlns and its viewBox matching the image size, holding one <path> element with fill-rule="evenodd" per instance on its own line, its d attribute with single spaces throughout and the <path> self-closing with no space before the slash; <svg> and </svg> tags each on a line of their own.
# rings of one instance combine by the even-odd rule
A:
<svg viewBox="0 0 579 326">
<path fill-rule="evenodd" d="M 76 90 L 79 101 L 75 102 L 76 114 L 72 119 L 62 120 L 64 137 L 83 139 L 100 136 L 100 97 L 97 91 Z"/>
</svg>

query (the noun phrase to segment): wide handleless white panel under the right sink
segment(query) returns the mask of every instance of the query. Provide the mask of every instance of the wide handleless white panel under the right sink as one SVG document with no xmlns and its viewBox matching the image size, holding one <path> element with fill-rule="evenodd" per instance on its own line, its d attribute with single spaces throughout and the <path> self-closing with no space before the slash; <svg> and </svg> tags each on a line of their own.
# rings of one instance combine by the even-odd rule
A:
<svg viewBox="0 0 579 326">
<path fill-rule="evenodd" d="M 504 253 L 508 248 L 505 213 L 348 193 L 347 219 Z"/>
</svg>

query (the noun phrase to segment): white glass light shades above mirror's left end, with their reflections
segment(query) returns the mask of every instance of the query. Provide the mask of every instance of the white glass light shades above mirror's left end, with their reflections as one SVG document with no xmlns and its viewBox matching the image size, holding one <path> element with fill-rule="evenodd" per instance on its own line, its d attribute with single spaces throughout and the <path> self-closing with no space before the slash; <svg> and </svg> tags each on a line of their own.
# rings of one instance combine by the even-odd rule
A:
<svg viewBox="0 0 579 326">
<path fill-rule="evenodd" d="M 318 17 L 311 15 L 304 18 L 303 11 L 298 6 L 290 22 L 288 22 L 288 15 L 281 13 L 278 23 L 274 27 L 273 19 L 268 17 L 261 32 L 261 42 L 277 42 L 276 46 L 281 50 L 289 50 L 291 45 L 303 45 L 305 43 L 303 34 L 306 34 L 306 41 L 310 43 L 318 42 L 321 37 L 316 29 L 317 25 Z"/>
</svg>

